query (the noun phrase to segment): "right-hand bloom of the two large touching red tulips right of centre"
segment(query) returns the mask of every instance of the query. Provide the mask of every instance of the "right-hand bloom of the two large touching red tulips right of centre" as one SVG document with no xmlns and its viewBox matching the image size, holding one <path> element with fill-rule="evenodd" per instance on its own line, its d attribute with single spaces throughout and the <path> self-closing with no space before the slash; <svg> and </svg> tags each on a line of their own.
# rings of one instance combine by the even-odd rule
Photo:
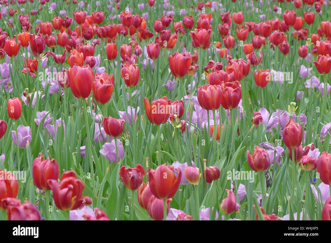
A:
<svg viewBox="0 0 331 243">
<path fill-rule="evenodd" d="M 234 83 L 221 84 L 221 105 L 224 109 L 234 109 L 241 99 L 241 85 L 238 81 Z"/>
</svg>

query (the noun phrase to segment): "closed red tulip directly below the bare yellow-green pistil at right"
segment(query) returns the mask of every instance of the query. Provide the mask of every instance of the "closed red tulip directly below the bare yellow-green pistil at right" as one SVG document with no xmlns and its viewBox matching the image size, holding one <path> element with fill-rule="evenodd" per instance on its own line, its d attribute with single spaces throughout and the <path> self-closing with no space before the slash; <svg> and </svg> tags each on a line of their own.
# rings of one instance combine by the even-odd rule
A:
<svg viewBox="0 0 331 243">
<path fill-rule="evenodd" d="M 288 148 L 299 147 L 302 143 L 302 126 L 290 119 L 283 130 L 283 141 Z"/>
</svg>

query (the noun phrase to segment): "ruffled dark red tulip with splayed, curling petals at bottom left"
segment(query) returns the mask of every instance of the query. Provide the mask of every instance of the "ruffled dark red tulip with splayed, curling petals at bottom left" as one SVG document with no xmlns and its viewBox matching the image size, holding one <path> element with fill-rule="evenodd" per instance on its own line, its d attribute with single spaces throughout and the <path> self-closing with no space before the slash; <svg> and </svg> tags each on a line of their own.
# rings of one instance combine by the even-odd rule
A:
<svg viewBox="0 0 331 243">
<path fill-rule="evenodd" d="M 57 180 L 48 180 L 47 183 L 53 191 L 54 203 L 60 210 L 81 209 L 85 204 L 92 204 L 90 197 L 82 197 L 85 184 L 77 179 L 73 171 L 65 171 L 60 178 L 60 184 Z"/>
</svg>

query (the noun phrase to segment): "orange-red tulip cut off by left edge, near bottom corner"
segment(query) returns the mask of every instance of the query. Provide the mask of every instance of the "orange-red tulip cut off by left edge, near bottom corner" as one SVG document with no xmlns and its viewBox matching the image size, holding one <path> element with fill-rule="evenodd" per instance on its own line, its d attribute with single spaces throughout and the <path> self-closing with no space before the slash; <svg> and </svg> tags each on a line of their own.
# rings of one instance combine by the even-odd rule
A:
<svg viewBox="0 0 331 243">
<path fill-rule="evenodd" d="M 6 198 L 16 198 L 18 190 L 19 183 L 15 176 L 9 171 L 0 169 L 0 210 L 5 209 L 5 202 L 3 200 Z"/>
</svg>

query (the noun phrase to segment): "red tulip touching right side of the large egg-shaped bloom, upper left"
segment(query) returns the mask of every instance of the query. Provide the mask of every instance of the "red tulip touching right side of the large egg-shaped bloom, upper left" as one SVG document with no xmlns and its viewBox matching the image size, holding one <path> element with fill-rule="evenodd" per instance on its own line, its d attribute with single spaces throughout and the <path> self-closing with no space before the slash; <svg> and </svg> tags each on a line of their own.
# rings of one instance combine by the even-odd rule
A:
<svg viewBox="0 0 331 243">
<path fill-rule="evenodd" d="M 97 75 L 92 85 L 94 99 L 100 104 L 106 104 L 112 97 L 114 83 L 115 78 L 113 74 L 111 76 L 106 73 Z"/>
</svg>

